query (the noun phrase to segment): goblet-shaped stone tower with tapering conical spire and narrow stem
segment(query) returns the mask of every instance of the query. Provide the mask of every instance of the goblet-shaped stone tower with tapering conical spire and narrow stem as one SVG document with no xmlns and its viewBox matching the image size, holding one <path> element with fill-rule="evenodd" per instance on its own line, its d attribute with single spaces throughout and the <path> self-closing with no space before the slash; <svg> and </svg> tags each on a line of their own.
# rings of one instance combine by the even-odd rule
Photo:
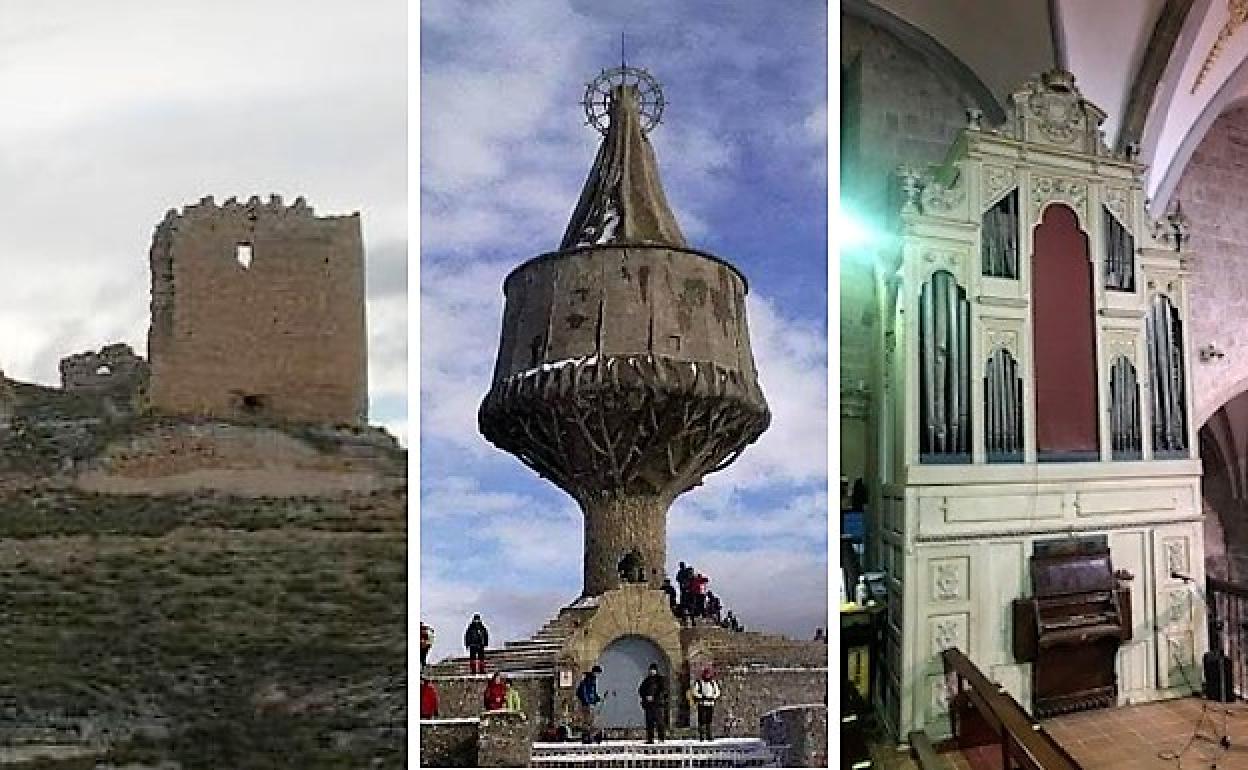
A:
<svg viewBox="0 0 1248 770">
<path fill-rule="evenodd" d="M 668 207 L 636 85 L 607 125 L 559 251 L 515 268 L 480 432 L 577 499 L 584 595 L 636 549 L 658 588 L 676 495 L 770 421 L 745 322 L 745 277 L 690 248 Z"/>
</svg>

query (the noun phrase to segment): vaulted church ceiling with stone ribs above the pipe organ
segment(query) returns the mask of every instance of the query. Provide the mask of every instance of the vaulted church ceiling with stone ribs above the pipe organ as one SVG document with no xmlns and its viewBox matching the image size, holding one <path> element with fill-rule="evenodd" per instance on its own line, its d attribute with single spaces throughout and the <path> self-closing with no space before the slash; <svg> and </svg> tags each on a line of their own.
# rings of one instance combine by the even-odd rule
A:
<svg viewBox="0 0 1248 770">
<path fill-rule="evenodd" d="M 1055 65 L 1104 110 L 1111 146 L 1137 142 L 1153 213 L 1213 121 L 1248 99 L 1248 0 L 844 0 L 917 30 L 1000 106 Z"/>
</svg>

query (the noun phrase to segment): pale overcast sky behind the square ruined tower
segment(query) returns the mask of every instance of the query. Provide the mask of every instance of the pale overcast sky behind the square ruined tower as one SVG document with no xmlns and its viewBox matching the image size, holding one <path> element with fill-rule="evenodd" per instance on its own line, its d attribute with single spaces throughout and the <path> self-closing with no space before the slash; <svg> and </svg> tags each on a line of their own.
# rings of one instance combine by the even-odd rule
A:
<svg viewBox="0 0 1248 770">
<path fill-rule="evenodd" d="M 359 211 L 371 412 L 407 433 L 403 0 L 0 0 L 0 368 L 146 351 L 171 207 L 302 195 Z"/>
</svg>

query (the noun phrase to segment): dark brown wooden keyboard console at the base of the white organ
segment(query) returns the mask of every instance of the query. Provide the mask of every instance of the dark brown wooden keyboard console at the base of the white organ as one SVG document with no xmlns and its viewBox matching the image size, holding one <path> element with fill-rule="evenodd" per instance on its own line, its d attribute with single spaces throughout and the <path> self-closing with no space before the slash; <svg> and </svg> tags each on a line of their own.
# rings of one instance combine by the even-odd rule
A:
<svg viewBox="0 0 1248 770">
<path fill-rule="evenodd" d="M 1131 640 L 1131 589 L 1104 537 L 1037 542 L 1035 595 L 1013 602 L 1013 653 L 1032 664 L 1037 718 L 1112 706 L 1118 646 Z"/>
</svg>

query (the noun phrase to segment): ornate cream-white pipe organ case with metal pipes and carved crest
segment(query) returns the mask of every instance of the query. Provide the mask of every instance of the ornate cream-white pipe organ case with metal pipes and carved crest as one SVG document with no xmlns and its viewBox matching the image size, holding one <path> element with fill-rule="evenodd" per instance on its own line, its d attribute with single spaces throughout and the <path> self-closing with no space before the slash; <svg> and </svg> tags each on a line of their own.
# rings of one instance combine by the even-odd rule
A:
<svg viewBox="0 0 1248 770">
<path fill-rule="evenodd" d="M 1171 577 L 1203 570 L 1189 255 L 1153 221 L 1144 168 L 1106 147 L 1103 119 L 1055 70 L 1013 92 L 1005 124 L 971 115 L 941 166 L 900 170 L 897 237 L 876 268 L 867 559 L 889 575 L 880 705 L 901 735 L 947 730 L 950 646 L 1041 710 L 1198 679 L 1202 609 Z M 1051 592 L 1061 569 L 1030 572 L 1061 538 L 1103 544 L 1104 569 L 1070 568 L 1091 580 L 1086 602 Z M 1137 579 L 1118 588 L 1111 560 Z M 1013 654 L 1016 600 L 1035 608 L 1035 659 Z M 1063 658 L 1085 633 L 1099 651 Z M 1051 658 L 1077 666 L 1058 679 L 1101 681 L 1094 696 L 1053 701 Z"/>
</svg>

